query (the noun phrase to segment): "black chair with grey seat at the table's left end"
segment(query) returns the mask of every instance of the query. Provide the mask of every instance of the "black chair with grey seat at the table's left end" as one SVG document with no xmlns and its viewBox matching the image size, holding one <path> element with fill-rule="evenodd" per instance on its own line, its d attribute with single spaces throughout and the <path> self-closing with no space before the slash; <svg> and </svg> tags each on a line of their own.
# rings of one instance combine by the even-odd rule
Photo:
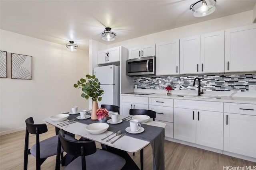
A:
<svg viewBox="0 0 256 170">
<path fill-rule="evenodd" d="M 48 131 L 45 123 L 34 124 L 32 117 L 26 119 L 26 135 L 25 135 L 25 148 L 24 148 L 24 170 L 28 169 L 28 155 L 32 154 L 36 157 L 36 170 L 40 170 L 40 166 L 46 160 L 46 158 L 56 155 L 58 146 L 58 135 L 45 139 L 39 140 L 39 134 Z M 36 144 L 28 149 L 29 133 L 36 135 Z M 63 152 L 63 150 L 61 150 Z M 62 160 L 63 160 L 63 153 Z M 62 161 L 62 165 L 63 165 Z"/>
</svg>

